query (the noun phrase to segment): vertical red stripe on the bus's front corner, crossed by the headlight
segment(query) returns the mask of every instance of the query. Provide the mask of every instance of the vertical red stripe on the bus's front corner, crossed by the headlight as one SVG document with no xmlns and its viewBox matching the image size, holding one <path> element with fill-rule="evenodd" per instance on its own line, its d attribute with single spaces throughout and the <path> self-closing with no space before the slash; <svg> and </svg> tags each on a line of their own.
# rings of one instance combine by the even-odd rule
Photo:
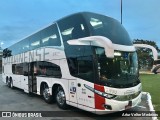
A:
<svg viewBox="0 0 160 120">
<path fill-rule="evenodd" d="M 104 86 L 94 84 L 94 89 L 99 90 L 101 92 L 104 92 Z M 105 98 L 96 94 L 96 93 L 94 94 L 94 97 L 95 97 L 95 108 L 100 109 L 100 110 L 104 110 L 105 108 L 103 105 L 105 104 Z"/>
</svg>

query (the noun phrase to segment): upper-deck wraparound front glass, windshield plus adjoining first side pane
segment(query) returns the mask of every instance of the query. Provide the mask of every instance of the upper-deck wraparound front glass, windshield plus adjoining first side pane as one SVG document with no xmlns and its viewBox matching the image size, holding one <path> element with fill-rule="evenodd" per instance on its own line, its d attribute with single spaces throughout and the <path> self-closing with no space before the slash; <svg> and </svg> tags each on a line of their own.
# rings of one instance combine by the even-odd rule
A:
<svg viewBox="0 0 160 120">
<path fill-rule="evenodd" d="M 79 13 L 58 22 L 62 38 L 65 41 L 87 36 L 104 36 L 114 44 L 132 45 L 124 27 L 115 19 L 95 14 Z"/>
</svg>

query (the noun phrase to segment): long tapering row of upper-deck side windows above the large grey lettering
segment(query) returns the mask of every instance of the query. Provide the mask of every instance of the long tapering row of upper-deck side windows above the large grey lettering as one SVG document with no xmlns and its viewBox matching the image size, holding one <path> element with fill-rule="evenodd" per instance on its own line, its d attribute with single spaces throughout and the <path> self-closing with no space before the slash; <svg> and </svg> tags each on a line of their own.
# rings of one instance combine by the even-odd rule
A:
<svg viewBox="0 0 160 120">
<path fill-rule="evenodd" d="M 20 54 L 43 46 L 61 46 L 56 24 L 51 25 L 3 50 L 3 57 Z"/>
</svg>

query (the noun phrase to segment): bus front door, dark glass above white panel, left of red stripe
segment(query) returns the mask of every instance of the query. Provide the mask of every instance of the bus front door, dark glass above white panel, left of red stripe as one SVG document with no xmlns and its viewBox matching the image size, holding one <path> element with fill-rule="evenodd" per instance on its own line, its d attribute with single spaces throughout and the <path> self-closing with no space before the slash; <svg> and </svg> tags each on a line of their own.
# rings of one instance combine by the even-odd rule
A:
<svg viewBox="0 0 160 120">
<path fill-rule="evenodd" d="M 88 111 L 94 111 L 95 101 L 94 79 L 95 72 L 92 56 L 86 55 L 77 58 L 77 101 L 78 107 Z"/>
</svg>

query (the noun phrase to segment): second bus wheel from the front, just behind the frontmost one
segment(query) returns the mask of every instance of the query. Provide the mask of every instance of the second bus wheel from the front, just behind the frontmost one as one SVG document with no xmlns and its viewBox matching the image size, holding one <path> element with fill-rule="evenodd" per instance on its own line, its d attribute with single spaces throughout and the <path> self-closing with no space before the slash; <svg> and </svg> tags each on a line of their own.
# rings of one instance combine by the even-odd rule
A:
<svg viewBox="0 0 160 120">
<path fill-rule="evenodd" d="M 50 94 L 48 86 L 43 90 L 43 99 L 46 103 L 52 103 L 53 101 L 53 96 Z"/>
</svg>

